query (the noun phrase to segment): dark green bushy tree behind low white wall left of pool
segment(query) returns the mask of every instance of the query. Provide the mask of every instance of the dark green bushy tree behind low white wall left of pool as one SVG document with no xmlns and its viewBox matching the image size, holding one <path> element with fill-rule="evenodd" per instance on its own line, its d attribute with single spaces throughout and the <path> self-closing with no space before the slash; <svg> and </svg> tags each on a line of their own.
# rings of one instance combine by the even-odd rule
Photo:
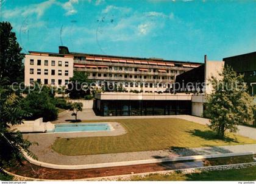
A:
<svg viewBox="0 0 256 184">
<path fill-rule="evenodd" d="M 58 117 L 51 87 L 39 83 L 35 83 L 34 90 L 23 99 L 22 107 L 31 113 L 31 116 L 26 119 L 34 120 L 43 117 L 43 121 L 52 121 Z"/>
</svg>

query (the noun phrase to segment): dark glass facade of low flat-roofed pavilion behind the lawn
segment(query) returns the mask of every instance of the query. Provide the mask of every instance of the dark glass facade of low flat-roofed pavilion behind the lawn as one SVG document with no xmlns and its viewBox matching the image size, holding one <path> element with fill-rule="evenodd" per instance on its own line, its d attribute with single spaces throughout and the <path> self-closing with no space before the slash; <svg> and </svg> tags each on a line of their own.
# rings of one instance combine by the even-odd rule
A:
<svg viewBox="0 0 256 184">
<path fill-rule="evenodd" d="M 191 101 L 96 99 L 94 111 L 101 116 L 191 115 Z"/>
</svg>

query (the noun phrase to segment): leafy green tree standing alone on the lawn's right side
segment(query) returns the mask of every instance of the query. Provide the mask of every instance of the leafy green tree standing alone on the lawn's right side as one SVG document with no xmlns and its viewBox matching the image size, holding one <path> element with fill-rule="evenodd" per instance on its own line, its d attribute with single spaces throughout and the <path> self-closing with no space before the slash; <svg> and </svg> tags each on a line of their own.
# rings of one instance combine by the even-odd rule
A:
<svg viewBox="0 0 256 184">
<path fill-rule="evenodd" d="M 253 99 L 247 93 L 244 76 L 236 74 L 230 66 L 223 69 L 221 80 L 210 79 L 212 94 L 207 97 L 205 113 L 210 118 L 210 129 L 224 138 L 226 130 L 236 132 L 238 124 L 253 120 Z"/>
</svg>

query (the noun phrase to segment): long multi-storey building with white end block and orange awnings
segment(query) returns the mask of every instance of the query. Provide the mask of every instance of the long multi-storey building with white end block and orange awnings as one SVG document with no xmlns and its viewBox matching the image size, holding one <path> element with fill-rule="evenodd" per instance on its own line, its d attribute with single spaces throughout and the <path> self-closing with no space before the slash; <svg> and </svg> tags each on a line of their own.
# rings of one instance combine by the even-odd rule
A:
<svg viewBox="0 0 256 184">
<path fill-rule="evenodd" d="M 25 83 L 30 85 L 37 80 L 66 85 L 73 71 L 84 71 L 99 86 L 122 83 L 127 91 L 158 92 L 170 88 L 177 75 L 200 65 L 160 58 L 83 54 L 60 46 L 59 53 L 29 51 L 25 57 Z"/>
</svg>

